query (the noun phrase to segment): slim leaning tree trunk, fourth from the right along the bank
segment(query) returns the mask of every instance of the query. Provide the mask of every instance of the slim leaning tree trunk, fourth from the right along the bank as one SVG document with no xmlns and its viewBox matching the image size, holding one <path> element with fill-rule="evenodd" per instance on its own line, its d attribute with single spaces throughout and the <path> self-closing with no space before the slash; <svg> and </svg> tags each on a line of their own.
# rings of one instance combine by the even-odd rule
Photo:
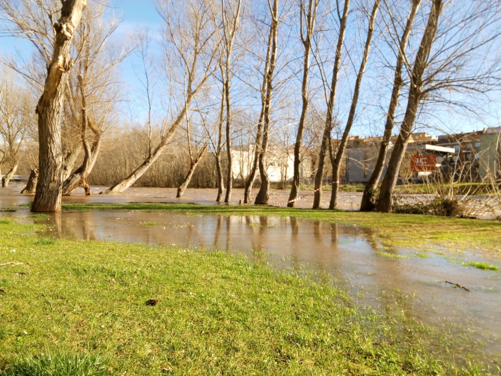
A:
<svg viewBox="0 0 501 376">
<path fill-rule="evenodd" d="M 336 87 L 338 83 L 338 73 L 341 65 L 341 51 L 343 49 L 344 36 L 346 32 L 346 20 L 348 18 L 348 10 L 350 8 L 350 0 L 345 0 L 343 16 L 339 23 L 339 37 L 336 46 L 336 57 L 334 59 L 334 68 L 332 73 L 331 89 L 329 93 L 329 101 L 327 103 L 327 115 L 325 119 L 324 134 L 322 135 L 322 143 L 320 145 L 320 152 L 318 156 L 317 173 L 315 174 L 315 196 L 313 198 L 313 209 L 320 208 L 322 200 L 322 181 L 324 176 L 324 163 L 327 148 L 331 144 L 331 130 L 332 130 L 332 115 L 334 110 L 334 100 L 336 98 Z"/>
</svg>

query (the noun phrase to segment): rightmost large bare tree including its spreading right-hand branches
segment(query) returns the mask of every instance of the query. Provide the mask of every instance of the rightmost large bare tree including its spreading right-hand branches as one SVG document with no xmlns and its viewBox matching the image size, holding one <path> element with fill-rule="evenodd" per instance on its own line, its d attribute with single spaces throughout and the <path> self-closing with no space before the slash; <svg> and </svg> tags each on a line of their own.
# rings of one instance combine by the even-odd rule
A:
<svg viewBox="0 0 501 376">
<path fill-rule="evenodd" d="M 439 17 L 445 12 L 444 17 Z M 376 210 L 390 212 L 394 186 L 417 116 L 434 116 L 441 109 L 479 116 L 482 102 L 499 88 L 501 58 L 497 47 L 501 30 L 498 2 L 433 2 L 428 24 L 412 69 L 399 135 L 381 183 Z M 480 109 L 480 110 L 478 110 Z M 428 112 L 429 111 L 429 112 Z"/>
</svg>

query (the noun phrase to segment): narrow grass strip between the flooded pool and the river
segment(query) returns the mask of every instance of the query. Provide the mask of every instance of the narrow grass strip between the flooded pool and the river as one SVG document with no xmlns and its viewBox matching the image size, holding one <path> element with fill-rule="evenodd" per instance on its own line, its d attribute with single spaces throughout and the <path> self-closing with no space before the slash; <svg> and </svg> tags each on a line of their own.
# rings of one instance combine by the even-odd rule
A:
<svg viewBox="0 0 501 376">
<path fill-rule="evenodd" d="M 162 210 L 193 215 L 280 216 L 324 220 L 370 229 L 385 247 L 474 252 L 501 260 L 501 222 L 407 214 L 195 204 L 64 204 L 69 210 Z"/>
</svg>

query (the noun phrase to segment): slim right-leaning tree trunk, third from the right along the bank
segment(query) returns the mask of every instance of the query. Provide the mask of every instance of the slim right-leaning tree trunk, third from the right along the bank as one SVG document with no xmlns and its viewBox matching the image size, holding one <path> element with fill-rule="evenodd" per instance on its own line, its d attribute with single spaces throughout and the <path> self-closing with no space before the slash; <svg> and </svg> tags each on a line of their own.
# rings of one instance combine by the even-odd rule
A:
<svg viewBox="0 0 501 376">
<path fill-rule="evenodd" d="M 360 84 L 362 83 L 362 77 L 365 71 L 365 65 L 369 57 L 369 50 L 371 47 L 372 35 L 374 34 L 374 21 L 376 20 L 376 14 L 379 9 L 379 3 L 381 0 L 376 0 L 374 2 L 374 7 L 372 8 L 371 17 L 369 19 L 369 28 L 367 31 L 367 39 L 365 40 L 364 55 L 362 57 L 362 62 L 360 64 L 360 69 L 358 70 L 357 80 L 355 81 L 355 88 L 353 90 L 353 97 L 351 99 L 350 112 L 348 114 L 348 120 L 346 122 L 345 130 L 343 136 L 341 137 L 341 142 L 338 144 L 338 150 L 336 152 L 336 157 L 333 158 L 331 154 L 331 164 L 332 164 L 332 191 L 331 191 L 331 202 L 329 203 L 329 209 L 333 210 L 338 204 L 338 189 L 339 189 L 339 170 L 341 168 L 341 163 L 343 161 L 344 150 L 346 147 L 346 142 L 348 141 L 348 136 L 350 135 L 351 126 L 353 125 L 353 119 L 355 118 L 355 110 L 358 102 L 358 95 L 360 92 Z"/>
</svg>

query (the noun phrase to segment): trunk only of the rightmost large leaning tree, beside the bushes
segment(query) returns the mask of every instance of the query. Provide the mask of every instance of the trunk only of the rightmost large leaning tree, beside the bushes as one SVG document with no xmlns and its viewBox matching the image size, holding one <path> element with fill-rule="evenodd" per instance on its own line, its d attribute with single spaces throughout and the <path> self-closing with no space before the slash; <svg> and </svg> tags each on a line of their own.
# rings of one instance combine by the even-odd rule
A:
<svg viewBox="0 0 501 376">
<path fill-rule="evenodd" d="M 422 76 L 427 65 L 427 58 L 431 50 L 433 38 L 435 36 L 438 24 L 438 17 L 442 7 L 442 0 L 433 0 L 431 11 L 428 18 L 428 24 L 424 30 L 424 34 L 416 54 L 416 60 L 411 73 L 411 82 L 409 85 L 409 97 L 407 100 L 407 109 L 405 111 L 404 120 L 400 127 L 400 133 L 393 147 L 393 151 L 388 161 L 388 168 L 381 183 L 376 211 L 390 213 L 393 205 L 393 194 L 395 184 L 398 179 L 398 172 L 404 157 L 405 149 L 409 141 L 409 136 L 414 126 L 419 102 L 421 99 Z"/>
</svg>

